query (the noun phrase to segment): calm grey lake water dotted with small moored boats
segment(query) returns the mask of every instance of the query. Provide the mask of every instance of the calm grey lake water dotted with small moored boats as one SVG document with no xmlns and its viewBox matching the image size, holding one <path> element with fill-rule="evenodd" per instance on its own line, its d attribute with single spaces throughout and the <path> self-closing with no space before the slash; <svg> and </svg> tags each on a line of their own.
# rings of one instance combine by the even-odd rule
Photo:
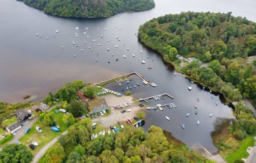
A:
<svg viewBox="0 0 256 163">
<path fill-rule="evenodd" d="M 37 100 L 40 100 L 49 91 L 54 92 L 66 82 L 75 79 L 100 82 L 137 71 L 155 82 L 158 87 L 152 88 L 141 84 L 141 87 L 132 89 L 135 98 L 168 93 L 174 97 L 174 100 L 162 100 L 160 103 L 174 102 L 178 106 L 172 110 L 164 108 L 162 112 L 146 111 L 145 129 L 150 125 L 157 125 L 171 131 L 174 137 L 187 143 L 189 147 L 199 142 L 210 152 L 216 151 L 210 137 L 210 132 L 214 129 L 212 123 L 217 117 L 233 118 L 232 109 L 222 104 L 218 95 L 210 94 L 196 84 L 193 84 L 192 91 L 189 92 L 187 90 L 187 86 L 191 84 L 189 79 L 180 73 L 174 75 L 173 67 L 165 65 L 160 55 L 143 46 L 137 40 L 135 33 L 140 24 L 152 18 L 181 11 L 232 11 L 233 15 L 256 21 L 256 1 L 155 0 L 155 2 L 156 7 L 149 11 L 120 13 L 111 18 L 64 19 L 46 15 L 19 1 L 1 0 L 0 100 L 21 102 L 26 94 L 35 95 Z M 79 30 L 75 30 L 76 27 L 79 27 Z M 58 34 L 56 30 L 59 30 Z M 75 42 L 74 45 L 72 41 Z M 115 45 L 118 45 L 118 48 L 115 48 Z M 107 51 L 107 48 L 110 51 Z M 132 54 L 135 57 L 132 57 Z M 123 58 L 123 55 L 127 57 Z M 115 61 L 117 58 L 119 61 Z M 142 60 L 146 61 L 146 65 L 141 64 Z M 153 69 L 148 69 L 148 65 Z M 117 84 L 108 87 L 120 89 L 117 88 Z M 196 98 L 199 98 L 200 102 L 197 102 Z M 216 101 L 218 106 L 215 104 Z M 149 105 L 155 103 L 150 101 Z M 198 115 L 195 115 L 195 104 L 198 106 Z M 190 116 L 186 118 L 187 112 Z M 214 117 L 209 118 L 208 115 L 211 113 Z M 170 117 L 170 121 L 166 121 L 165 116 Z M 197 120 L 200 121 L 199 126 L 196 125 Z M 181 129 L 182 124 L 185 124 L 185 129 Z"/>
</svg>

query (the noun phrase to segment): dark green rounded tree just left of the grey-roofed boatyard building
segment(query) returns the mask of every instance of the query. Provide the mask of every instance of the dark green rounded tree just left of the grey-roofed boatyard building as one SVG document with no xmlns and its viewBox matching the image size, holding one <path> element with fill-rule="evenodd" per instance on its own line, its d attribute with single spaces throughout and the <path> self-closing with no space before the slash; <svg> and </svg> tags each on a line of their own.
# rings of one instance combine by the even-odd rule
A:
<svg viewBox="0 0 256 163">
<path fill-rule="evenodd" d="M 72 100 L 69 106 L 73 117 L 80 117 L 86 113 L 86 107 L 82 101 Z"/>
</svg>

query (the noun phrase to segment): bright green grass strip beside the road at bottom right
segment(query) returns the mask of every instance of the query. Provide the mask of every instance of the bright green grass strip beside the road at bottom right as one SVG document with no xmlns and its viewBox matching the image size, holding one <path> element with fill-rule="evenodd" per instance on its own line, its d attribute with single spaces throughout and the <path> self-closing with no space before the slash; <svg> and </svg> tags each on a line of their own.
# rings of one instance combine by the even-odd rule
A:
<svg viewBox="0 0 256 163">
<path fill-rule="evenodd" d="M 228 163 L 232 163 L 235 160 L 241 160 L 242 158 L 247 158 L 249 156 L 247 152 L 247 148 L 253 147 L 255 142 L 255 139 L 253 137 L 247 137 L 246 139 L 243 139 L 241 147 L 227 156 L 225 159 Z"/>
</svg>

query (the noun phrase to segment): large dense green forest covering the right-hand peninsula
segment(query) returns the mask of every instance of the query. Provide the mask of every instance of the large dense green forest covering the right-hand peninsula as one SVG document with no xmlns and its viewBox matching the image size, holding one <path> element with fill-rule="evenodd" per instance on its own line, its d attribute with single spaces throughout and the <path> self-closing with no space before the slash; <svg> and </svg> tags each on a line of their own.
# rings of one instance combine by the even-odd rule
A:
<svg viewBox="0 0 256 163">
<path fill-rule="evenodd" d="M 164 15 L 146 22 L 138 36 L 195 82 L 221 92 L 228 102 L 256 101 L 256 24 L 231 13 Z M 181 63 L 176 55 L 197 61 Z M 203 64 L 206 63 L 206 64 Z M 181 67 L 180 67 L 181 65 Z"/>
</svg>

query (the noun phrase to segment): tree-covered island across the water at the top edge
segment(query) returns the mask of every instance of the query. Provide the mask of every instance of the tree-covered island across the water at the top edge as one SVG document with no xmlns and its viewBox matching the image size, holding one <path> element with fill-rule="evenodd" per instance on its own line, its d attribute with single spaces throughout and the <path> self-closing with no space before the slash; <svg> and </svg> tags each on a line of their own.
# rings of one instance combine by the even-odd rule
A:
<svg viewBox="0 0 256 163">
<path fill-rule="evenodd" d="M 154 0 L 23 0 L 49 15 L 70 18 L 108 17 L 125 11 L 145 11 Z"/>
</svg>

